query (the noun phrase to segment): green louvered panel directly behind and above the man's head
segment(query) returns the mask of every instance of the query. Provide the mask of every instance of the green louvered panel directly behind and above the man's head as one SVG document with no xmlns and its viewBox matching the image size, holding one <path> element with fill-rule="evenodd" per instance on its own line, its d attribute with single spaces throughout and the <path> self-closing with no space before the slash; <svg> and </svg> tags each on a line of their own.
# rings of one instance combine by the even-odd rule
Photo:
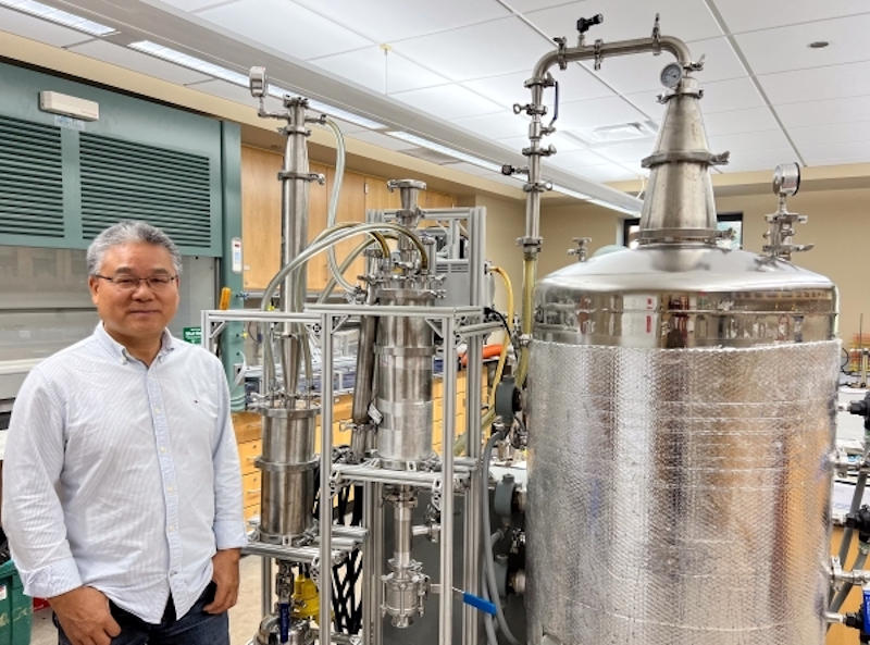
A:
<svg viewBox="0 0 870 645">
<path fill-rule="evenodd" d="M 86 238 L 121 220 L 147 220 L 178 246 L 211 246 L 209 158 L 82 133 L 79 160 Z"/>
</svg>

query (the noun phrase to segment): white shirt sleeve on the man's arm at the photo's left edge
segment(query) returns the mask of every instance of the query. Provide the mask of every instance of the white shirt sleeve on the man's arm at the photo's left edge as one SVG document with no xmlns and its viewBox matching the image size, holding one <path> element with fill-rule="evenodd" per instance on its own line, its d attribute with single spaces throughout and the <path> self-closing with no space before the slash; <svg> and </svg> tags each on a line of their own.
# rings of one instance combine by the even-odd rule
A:
<svg viewBox="0 0 870 645">
<path fill-rule="evenodd" d="M 58 497 L 63 454 L 64 404 L 37 368 L 15 399 L 3 461 L 3 530 L 30 596 L 82 585 Z"/>
</svg>

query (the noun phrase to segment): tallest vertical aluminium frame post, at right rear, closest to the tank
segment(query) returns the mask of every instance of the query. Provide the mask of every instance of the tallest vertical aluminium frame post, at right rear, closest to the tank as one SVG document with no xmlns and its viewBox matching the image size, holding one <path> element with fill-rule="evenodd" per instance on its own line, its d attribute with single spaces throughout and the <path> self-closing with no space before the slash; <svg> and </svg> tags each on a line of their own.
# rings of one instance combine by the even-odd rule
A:
<svg viewBox="0 0 870 645">
<path fill-rule="evenodd" d="M 486 281 L 484 280 L 484 244 L 486 239 L 486 220 L 483 209 L 471 209 L 469 216 L 469 234 L 471 237 L 471 301 L 474 307 L 485 305 Z M 469 367 L 465 384 L 465 410 L 468 456 L 475 462 L 481 457 L 481 386 L 483 370 L 483 338 L 474 336 L 468 339 Z M 478 595 L 480 549 L 481 549 L 481 485 L 484 473 L 480 468 L 471 474 L 469 489 L 465 492 L 463 518 L 463 579 L 462 588 L 475 596 Z M 462 606 L 462 644 L 476 645 L 477 621 L 476 609 Z"/>
</svg>

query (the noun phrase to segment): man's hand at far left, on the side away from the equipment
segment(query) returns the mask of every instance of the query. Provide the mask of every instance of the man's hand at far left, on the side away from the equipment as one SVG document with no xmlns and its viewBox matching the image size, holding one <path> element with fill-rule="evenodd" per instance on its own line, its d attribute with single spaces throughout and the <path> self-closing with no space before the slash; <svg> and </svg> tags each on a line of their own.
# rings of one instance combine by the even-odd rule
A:
<svg viewBox="0 0 870 645">
<path fill-rule="evenodd" d="M 63 633 L 73 645 L 110 645 L 121 625 L 109 611 L 109 598 L 91 586 L 79 586 L 48 599 Z"/>
</svg>

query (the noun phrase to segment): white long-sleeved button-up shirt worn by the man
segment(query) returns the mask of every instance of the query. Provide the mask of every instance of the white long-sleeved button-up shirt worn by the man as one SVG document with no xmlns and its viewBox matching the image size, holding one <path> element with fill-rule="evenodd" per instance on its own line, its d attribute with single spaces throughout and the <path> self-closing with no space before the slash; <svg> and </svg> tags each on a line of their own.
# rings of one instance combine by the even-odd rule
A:
<svg viewBox="0 0 870 645">
<path fill-rule="evenodd" d="M 3 526 L 24 591 L 80 585 L 160 622 L 184 616 L 215 549 L 246 544 L 238 451 L 221 361 L 164 332 L 150 367 L 98 324 L 15 399 Z"/>
</svg>

